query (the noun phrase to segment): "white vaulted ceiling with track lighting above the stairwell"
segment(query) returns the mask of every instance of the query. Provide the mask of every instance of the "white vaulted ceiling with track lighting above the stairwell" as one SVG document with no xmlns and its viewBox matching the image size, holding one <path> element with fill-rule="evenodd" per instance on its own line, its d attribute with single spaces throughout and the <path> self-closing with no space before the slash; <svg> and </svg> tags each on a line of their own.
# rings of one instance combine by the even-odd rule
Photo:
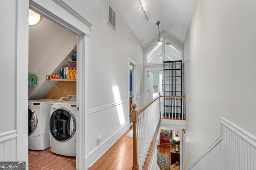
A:
<svg viewBox="0 0 256 170">
<path fill-rule="evenodd" d="M 196 0 L 144 0 L 142 5 L 149 17 L 146 20 L 140 5 L 142 0 L 113 1 L 144 47 L 158 36 L 157 21 L 160 21 L 160 32 L 165 31 L 184 43 L 196 3 Z"/>
</svg>

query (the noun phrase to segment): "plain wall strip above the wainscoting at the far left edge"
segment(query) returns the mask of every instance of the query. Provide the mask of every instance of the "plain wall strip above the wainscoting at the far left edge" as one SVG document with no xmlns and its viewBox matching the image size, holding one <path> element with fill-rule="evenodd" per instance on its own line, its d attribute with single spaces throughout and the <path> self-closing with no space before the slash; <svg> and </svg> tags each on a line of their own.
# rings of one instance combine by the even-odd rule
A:
<svg viewBox="0 0 256 170">
<path fill-rule="evenodd" d="M 6 10 L 8 9 L 8 10 Z M 10 12 L 9 17 L 6 17 L 6 12 Z M 2 60 L 2 83 L 1 94 L 3 101 L 1 103 L 1 116 L 5 119 L 0 119 L 0 133 L 15 129 L 15 76 L 16 75 L 16 2 L 3 2 L 0 7 L 0 21 L 3 25 L 0 31 L 1 37 L 1 60 Z M 8 101 L 8 102 L 4 102 Z M 8 115 L 8 116 L 7 116 Z"/>
</svg>

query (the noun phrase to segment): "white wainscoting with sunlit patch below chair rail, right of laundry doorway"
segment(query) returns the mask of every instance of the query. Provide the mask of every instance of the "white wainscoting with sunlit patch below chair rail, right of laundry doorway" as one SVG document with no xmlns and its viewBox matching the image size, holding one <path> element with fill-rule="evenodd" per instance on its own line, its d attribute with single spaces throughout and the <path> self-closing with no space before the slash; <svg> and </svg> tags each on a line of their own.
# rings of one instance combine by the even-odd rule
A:
<svg viewBox="0 0 256 170">
<path fill-rule="evenodd" d="M 129 100 L 89 110 L 86 117 L 86 165 L 96 162 L 129 129 L 129 124 Z M 101 141 L 97 143 L 99 136 Z"/>
</svg>

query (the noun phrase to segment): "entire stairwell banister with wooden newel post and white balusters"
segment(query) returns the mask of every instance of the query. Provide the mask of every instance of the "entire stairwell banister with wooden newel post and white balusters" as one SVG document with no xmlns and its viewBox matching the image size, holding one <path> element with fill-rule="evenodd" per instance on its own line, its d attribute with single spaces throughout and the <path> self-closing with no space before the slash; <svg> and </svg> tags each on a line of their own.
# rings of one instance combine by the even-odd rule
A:
<svg viewBox="0 0 256 170">
<path fill-rule="evenodd" d="M 161 98 L 164 100 L 163 112 L 168 113 L 168 117 L 161 116 Z M 157 102 L 159 100 L 159 102 Z M 168 101 L 168 102 L 166 102 Z M 130 112 L 132 129 L 133 129 L 133 166 L 132 170 L 141 170 L 148 150 L 153 139 L 156 127 L 161 120 L 165 119 L 181 119 L 186 117 L 186 96 L 159 96 L 152 102 L 146 104 L 138 111 L 137 105 L 132 104 L 132 111 Z M 170 117 L 170 113 L 172 116 Z M 178 113 L 178 116 L 177 116 Z M 174 115 L 175 114 L 175 115 Z"/>
</svg>

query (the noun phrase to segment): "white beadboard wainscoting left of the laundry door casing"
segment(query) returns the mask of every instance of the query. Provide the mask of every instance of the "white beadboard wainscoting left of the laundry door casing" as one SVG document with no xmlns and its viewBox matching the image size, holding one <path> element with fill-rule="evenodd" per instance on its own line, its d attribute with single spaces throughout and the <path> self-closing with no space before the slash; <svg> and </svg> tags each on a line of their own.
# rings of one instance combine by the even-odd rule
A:
<svg viewBox="0 0 256 170">
<path fill-rule="evenodd" d="M 0 134 L 0 161 L 16 161 L 17 134 L 16 130 Z"/>
</svg>

